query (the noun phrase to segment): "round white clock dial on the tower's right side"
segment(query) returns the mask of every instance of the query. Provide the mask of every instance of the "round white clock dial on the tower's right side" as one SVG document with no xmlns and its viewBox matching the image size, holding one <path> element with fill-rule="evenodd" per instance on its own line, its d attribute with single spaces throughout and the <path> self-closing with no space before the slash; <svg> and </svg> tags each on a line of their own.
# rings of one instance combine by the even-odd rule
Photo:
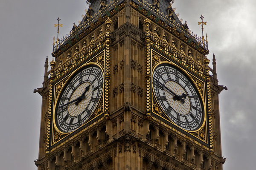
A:
<svg viewBox="0 0 256 170">
<path fill-rule="evenodd" d="M 197 130 L 204 119 L 201 97 L 188 76 L 170 64 L 153 71 L 153 89 L 163 112 L 184 130 Z"/>
</svg>

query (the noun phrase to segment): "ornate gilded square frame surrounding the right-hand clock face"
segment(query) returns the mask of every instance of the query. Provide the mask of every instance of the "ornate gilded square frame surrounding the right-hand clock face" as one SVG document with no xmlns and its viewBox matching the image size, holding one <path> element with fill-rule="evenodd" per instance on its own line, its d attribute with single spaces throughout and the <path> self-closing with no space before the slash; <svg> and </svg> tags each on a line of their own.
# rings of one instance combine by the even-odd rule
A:
<svg viewBox="0 0 256 170">
<path fill-rule="evenodd" d="M 152 43 L 151 43 L 152 45 Z M 149 50 L 148 50 L 148 55 L 150 56 L 150 77 L 153 76 L 154 69 L 157 67 L 157 65 L 167 63 L 170 65 L 174 65 L 175 67 L 179 68 L 180 71 L 183 72 L 183 74 L 186 74 L 186 76 L 190 79 L 190 82 L 193 83 L 195 86 L 196 90 L 198 91 L 198 94 L 201 97 L 202 101 L 202 108 L 204 112 L 204 119 L 201 124 L 201 127 L 199 127 L 197 130 L 184 130 L 181 127 L 177 126 L 175 123 L 169 120 L 169 118 L 166 116 L 166 114 L 162 111 L 159 103 L 157 102 L 157 99 L 155 98 L 155 94 L 153 89 L 151 88 L 151 119 L 156 120 L 157 122 L 162 123 L 169 129 L 173 131 L 179 131 L 182 136 L 186 137 L 187 139 L 197 139 L 198 144 L 201 144 L 202 142 L 204 145 L 207 145 L 209 147 L 209 123 L 207 122 L 208 120 L 208 115 L 207 115 L 207 107 L 208 107 L 208 96 L 207 96 L 207 76 L 203 74 L 203 71 L 197 71 L 195 68 L 187 68 L 184 67 L 186 63 L 178 59 L 175 54 L 161 54 L 163 51 L 158 51 L 157 49 L 149 45 Z M 167 53 L 167 51 L 166 51 Z M 150 86 L 152 87 L 152 79 L 150 80 Z M 198 88 L 200 86 L 200 88 Z M 157 110 L 156 110 L 157 109 Z M 158 111 L 158 112 L 157 112 Z M 160 112 L 159 112 L 160 111 Z M 160 119 L 160 120 L 159 120 Z M 192 138 L 191 138 L 192 137 Z M 206 147 L 206 148 L 208 148 Z"/>
</svg>

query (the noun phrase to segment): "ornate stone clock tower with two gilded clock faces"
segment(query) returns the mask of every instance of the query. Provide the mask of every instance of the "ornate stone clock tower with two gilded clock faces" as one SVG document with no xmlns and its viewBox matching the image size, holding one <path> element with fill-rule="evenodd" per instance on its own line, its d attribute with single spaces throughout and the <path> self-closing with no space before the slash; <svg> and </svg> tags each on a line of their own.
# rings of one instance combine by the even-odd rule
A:
<svg viewBox="0 0 256 170">
<path fill-rule="evenodd" d="M 87 0 L 45 62 L 38 170 L 222 170 L 216 59 L 169 0 Z M 202 21 L 203 22 L 203 21 Z M 50 70 L 48 71 L 50 65 Z"/>
</svg>

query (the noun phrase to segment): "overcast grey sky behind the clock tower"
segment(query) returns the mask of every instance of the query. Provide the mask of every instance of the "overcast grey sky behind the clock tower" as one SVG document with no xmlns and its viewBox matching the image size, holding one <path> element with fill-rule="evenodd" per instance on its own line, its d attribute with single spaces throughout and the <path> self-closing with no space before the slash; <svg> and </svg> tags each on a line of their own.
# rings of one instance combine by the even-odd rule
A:
<svg viewBox="0 0 256 170">
<path fill-rule="evenodd" d="M 207 25 L 209 55 L 216 56 L 220 85 L 224 170 L 255 167 L 256 1 L 175 0 L 180 19 L 201 35 Z M 36 170 L 46 56 L 52 60 L 58 17 L 66 35 L 87 9 L 86 0 L 0 0 L 0 169 Z"/>
</svg>

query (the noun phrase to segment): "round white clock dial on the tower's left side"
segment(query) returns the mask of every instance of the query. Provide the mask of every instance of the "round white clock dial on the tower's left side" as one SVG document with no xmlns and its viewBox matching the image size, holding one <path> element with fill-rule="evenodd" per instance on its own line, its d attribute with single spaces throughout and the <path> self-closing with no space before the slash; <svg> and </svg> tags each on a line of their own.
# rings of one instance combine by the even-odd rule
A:
<svg viewBox="0 0 256 170">
<path fill-rule="evenodd" d="M 55 125 L 61 132 L 72 132 L 92 115 L 102 94 L 104 77 L 101 68 L 87 65 L 64 86 L 55 107 Z"/>
</svg>

